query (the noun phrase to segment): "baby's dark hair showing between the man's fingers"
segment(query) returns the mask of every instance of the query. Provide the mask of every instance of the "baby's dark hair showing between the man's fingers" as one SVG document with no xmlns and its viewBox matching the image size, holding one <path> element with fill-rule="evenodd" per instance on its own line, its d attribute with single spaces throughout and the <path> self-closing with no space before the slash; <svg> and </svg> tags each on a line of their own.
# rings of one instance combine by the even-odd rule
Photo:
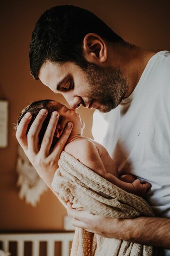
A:
<svg viewBox="0 0 170 256">
<path fill-rule="evenodd" d="M 17 127 L 21 121 L 21 119 L 25 116 L 25 114 L 27 112 L 30 112 L 32 114 L 32 119 L 28 125 L 28 128 L 26 130 L 26 134 L 28 133 L 32 123 L 34 122 L 36 116 L 38 115 L 39 111 L 42 110 L 42 109 L 47 109 L 48 110 L 48 114 L 47 114 L 47 117 L 46 119 L 44 120 L 43 124 L 42 124 L 42 128 L 40 130 L 40 133 L 39 133 L 39 145 L 41 145 L 42 143 L 42 139 L 43 139 L 43 136 L 45 134 L 45 131 L 46 131 L 46 128 L 48 126 L 48 123 L 50 121 L 50 118 L 51 118 L 51 113 L 52 113 L 52 106 L 49 104 L 49 102 L 51 101 L 54 101 L 54 100 L 41 100 L 41 101 L 33 101 L 31 102 L 25 109 L 23 109 L 17 119 L 17 124 L 15 125 L 15 129 L 17 130 Z M 53 141 L 52 141 L 52 144 L 51 144 L 51 147 L 53 147 L 56 142 L 58 141 L 58 137 L 54 136 L 53 137 Z"/>
</svg>

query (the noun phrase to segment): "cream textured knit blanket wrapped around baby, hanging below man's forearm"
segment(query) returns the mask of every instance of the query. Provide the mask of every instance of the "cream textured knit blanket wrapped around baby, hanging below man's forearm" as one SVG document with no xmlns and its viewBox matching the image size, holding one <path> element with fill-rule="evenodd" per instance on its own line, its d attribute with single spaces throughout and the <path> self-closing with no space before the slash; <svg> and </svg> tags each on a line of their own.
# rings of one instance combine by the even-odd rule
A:
<svg viewBox="0 0 170 256">
<path fill-rule="evenodd" d="M 128 193 L 94 173 L 65 151 L 61 153 L 51 188 L 66 206 L 116 218 L 154 216 L 141 198 Z M 71 256 L 152 256 L 153 247 L 100 235 L 76 228 Z"/>
</svg>

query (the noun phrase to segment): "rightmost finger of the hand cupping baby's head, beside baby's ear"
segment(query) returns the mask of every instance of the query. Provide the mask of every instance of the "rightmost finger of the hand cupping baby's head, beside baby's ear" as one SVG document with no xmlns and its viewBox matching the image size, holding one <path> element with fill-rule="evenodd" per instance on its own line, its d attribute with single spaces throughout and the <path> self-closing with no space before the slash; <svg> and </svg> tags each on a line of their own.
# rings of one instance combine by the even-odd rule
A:
<svg viewBox="0 0 170 256">
<path fill-rule="evenodd" d="M 51 155 L 53 155 L 55 157 L 56 155 L 61 154 L 61 152 L 68 140 L 68 137 L 71 133 L 72 128 L 73 128 L 73 124 L 70 122 L 65 126 L 61 137 L 59 138 L 58 142 L 56 143 L 56 145 L 54 146 L 54 148 L 51 152 Z"/>
</svg>

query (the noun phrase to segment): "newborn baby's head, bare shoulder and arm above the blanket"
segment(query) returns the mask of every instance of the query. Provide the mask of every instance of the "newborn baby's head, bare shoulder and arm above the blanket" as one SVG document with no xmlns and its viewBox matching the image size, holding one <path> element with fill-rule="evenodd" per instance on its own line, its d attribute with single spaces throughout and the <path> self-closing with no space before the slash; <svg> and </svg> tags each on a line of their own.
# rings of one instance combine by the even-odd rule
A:
<svg viewBox="0 0 170 256">
<path fill-rule="evenodd" d="M 85 124 L 80 118 L 80 115 L 76 113 L 76 110 L 68 109 L 65 105 L 57 101 L 43 100 L 32 102 L 29 106 L 22 110 L 17 120 L 16 128 L 26 112 L 31 112 L 33 117 L 27 128 L 28 133 L 29 128 L 41 109 L 48 110 L 48 115 L 43 122 L 41 131 L 39 133 L 39 144 L 42 142 L 42 138 L 51 118 L 51 113 L 53 111 L 57 111 L 59 113 L 59 122 L 56 127 L 51 147 L 56 144 L 64 130 L 65 125 L 70 121 L 73 123 L 73 129 L 68 138 L 64 151 L 74 156 L 83 165 L 87 166 L 95 173 L 101 175 L 106 180 L 127 192 L 144 196 L 147 190 L 151 187 L 150 183 L 141 183 L 140 180 L 136 179 L 136 177 L 131 174 L 119 176 L 118 168 L 105 147 L 93 139 L 82 136 Z"/>
</svg>

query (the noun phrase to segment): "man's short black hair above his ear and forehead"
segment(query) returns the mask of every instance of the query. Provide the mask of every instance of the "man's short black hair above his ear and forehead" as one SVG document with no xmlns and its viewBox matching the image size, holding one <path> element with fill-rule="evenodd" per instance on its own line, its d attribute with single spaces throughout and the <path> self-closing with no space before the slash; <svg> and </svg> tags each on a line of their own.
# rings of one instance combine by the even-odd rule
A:
<svg viewBox="0 0 170 256">
<path fill-rule="evenodd" d="M 90 11 L 72 5 L 61 5 L 46 10 L 37 21 L 30 43 L 30 70 L 38 80 L 42 64 L 71 61 L 85 67 L 83 39 L 95 33 L 104 40 L 125 43 L 100 18 Z"/>
</svg>

